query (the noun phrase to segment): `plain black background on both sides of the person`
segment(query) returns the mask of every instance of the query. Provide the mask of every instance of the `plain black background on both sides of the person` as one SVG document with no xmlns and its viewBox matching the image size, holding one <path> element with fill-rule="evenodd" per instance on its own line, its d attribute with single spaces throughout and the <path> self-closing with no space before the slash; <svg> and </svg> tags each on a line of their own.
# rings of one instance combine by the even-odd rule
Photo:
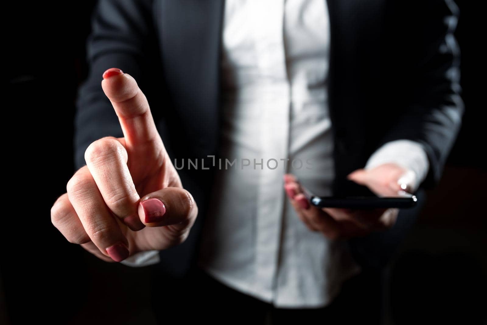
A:
<svg viewBox="0 0 487 325">
<path fill-rule="evenodd" d="M 3 11 L 7 213 L 1 227 L 0 324 L 154 322 L 149 268 L 99 261 L 68 243 L 50 221 L 50 208 L 74 173 L 75 97 L 86 76 L 94 3 L 36 1 Z M 417 224 L 394 255 L 388 324 L 486 321 L 486 105 L 480 81 L 485 56 L 477 45 L 484 31 L 474 3 L 456 3 L 464 122 L 442 181 L 428 193 Z"/>
</svg>

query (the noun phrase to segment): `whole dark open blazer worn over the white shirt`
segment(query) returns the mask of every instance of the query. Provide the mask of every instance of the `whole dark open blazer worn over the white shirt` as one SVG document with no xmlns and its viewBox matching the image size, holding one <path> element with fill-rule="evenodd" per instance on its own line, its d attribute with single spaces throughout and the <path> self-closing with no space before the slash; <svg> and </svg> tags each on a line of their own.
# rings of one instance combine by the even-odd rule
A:
<svg viewBox="0 0 487 325">
<path fill-rule="evenodd" d="M 458 8 L 451 0 L 327 3 L 336 178 L 363 167 L 380 145 L 410 139 L 425 145 L 430 161 L 421 188 L 433 186 L 463 113 L 459 49 L 453 36 Z M 216 154 L 224 5 L 224 0 L 99 2 L 87 42 L 89 76 L 77 100 L 78 168 L 85 164 L 84 151 L 94 140 L 123 136 L 101 89 L 101 75 L 112 67 L 131 74 L 146 93 L 172 159 Z M 160 252 L 160 267 L 174 275 L 186 274 L 193 265 L 211 190 L 211 171 L 181 170 L 180 176 L 200 214 L 185 243 Z M 407 228 L 401 222 L 381 235 L 350 241 L 362 265 L 385 263 L 383 255 L 389 256 L 392 242 L 397 243 Z"/>
</svg>

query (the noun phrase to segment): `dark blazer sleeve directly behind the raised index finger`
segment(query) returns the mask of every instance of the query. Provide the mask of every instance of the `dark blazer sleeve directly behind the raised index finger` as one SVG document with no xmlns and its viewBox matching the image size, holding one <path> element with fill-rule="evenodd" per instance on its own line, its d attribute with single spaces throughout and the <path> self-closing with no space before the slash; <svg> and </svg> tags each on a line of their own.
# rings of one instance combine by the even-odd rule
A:
<svg viewBox="0 0 487 325">
<path fill-rule="evenodd" d="M 84 152 L 95 140 L 122 137 L 114 109 L 101 88 L 106 69 L 119 68 L 139 83 L 150 53 L 152 17 L 148 0 L 100 0 L 92 16 L 87 39 L 87 79 L 78 88 L 75 112 L 75 166 L 85 165 Z M 141 87 L 142 88 L 142 87 Z"/>
</svg>

